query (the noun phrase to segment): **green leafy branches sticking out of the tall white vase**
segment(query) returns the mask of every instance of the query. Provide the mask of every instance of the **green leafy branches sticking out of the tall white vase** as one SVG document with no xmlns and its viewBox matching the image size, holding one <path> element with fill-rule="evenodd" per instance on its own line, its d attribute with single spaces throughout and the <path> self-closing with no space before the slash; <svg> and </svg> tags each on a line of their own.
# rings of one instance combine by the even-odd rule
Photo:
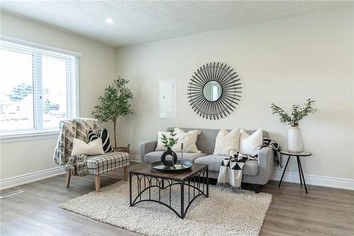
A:
<svg viewBox="0 0 354 236">
<path fill-rule="evenodd" d="M 288 123 L 292 127 L 296 127 L 299 125 L 299 120 L 305 116 L 308 116 L 309 113 L 314 113 L 317 111 L 317 109 L 313 107 L 314 100 L 312 99 L 307 99 L 304 105 L 304 108 L 300 108 L 299 105 L 292 105 L 291 115 L 274 103 L 272 103 L 271 108 L 273 110 L 273 114 L 278 114 L 280 116 L 281 123 Z"/>
</svg>

